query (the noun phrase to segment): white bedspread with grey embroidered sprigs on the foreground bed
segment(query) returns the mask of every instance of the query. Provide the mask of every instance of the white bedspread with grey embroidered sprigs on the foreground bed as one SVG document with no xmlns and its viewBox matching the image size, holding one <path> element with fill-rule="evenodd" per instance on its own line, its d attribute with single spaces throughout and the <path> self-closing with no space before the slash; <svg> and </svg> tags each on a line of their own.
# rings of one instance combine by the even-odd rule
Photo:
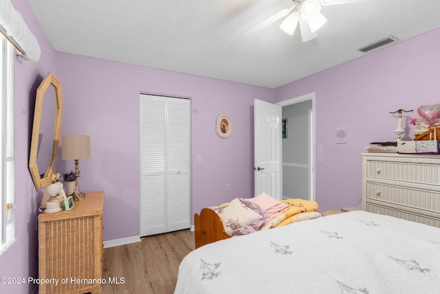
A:
<svg viewBox="0 0 440 294">
<path fill-rule="evenodd" d="M 175 293 L 440 293 L 440 229 L 357 211 L 257 231 L 190 252 Z"/>
</svg>

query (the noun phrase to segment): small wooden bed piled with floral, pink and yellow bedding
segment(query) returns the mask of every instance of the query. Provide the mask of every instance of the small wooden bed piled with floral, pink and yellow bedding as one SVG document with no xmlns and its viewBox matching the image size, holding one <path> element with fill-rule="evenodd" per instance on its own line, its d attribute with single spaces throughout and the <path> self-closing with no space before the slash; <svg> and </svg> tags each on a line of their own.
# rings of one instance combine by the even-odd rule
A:
<svg viewBox="0 0 440 294">
<path fill-rule="evenodd" d="M 203 208 L 194 216 L 195 248 L 232 236 L 318 218 L 321 214 L 317 210 L 316 201 L 278 201 L 265 193 L 253 199 L 236 198 L 230 203 Z"/>
</svg>

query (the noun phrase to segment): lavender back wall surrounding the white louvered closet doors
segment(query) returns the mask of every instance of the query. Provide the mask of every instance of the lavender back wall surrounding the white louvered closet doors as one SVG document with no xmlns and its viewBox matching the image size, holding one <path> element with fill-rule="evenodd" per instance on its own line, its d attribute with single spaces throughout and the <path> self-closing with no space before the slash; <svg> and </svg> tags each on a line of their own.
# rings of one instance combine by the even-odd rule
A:
<svg viewBox="0 0 440 294">
<path fill-rule="evenodd" d="M 253 196 L 253 103 L 273 102 L 273 89 L 65 53 L 57 53 L 57 66 L 61 133 L 91 135 L 91 159 L 80 160 L 80 188 L 105 191 L 104 240 L 140 234 L 140 93 L 191 99 L 192 212 Z M 215 132 L 221 113 L 233 120 L 229 139 Z M 73 164 L 58 159 L 58 171 Z"/>
</svg>

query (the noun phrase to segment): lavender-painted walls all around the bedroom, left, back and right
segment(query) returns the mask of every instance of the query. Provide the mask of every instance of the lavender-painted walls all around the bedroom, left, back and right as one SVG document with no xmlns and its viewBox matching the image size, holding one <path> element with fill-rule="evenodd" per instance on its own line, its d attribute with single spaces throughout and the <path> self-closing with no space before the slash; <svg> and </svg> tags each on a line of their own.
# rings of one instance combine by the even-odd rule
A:
<svg viewBox="0 0 440 294">
<path fill-rule="evenodd" d="M 35 92 L 49 71 L 63 84 L 62 133 L 91 135 L 92 158 L 80 163 L 81 188 L 106 191 L 104 240 L 136 236 L 140 230 L 140 92 L 191 98 L 192 212 L 252 196 L 254 98 L 278 102 L 316 92 L 316 144 L 324 146 L 324 162 L 316 164 L 320 211 L 360 203 L 360 152 L 371 141 L 395 139 L 395 118 L 388 111 L 439 102 L 440 30 L 274 90 L 54 52 L 28 3 L 12 4 L 43 53 L 38 63 L 15 62 L 17 244 L 1 256 L 1 276 L 37 276 L 36 209 L 42 191 L 34 188 L 28 158 Z M 234 120 L 230 139 L 215 134 L 220 113 Z M 349 128 L 348 144 L 334 143 L 340 126 Z M 56 167 L 65 172 L 73 163 L 58 158 Z M 0 284 L 1 293 L 32 289 Z"/>
</svg>

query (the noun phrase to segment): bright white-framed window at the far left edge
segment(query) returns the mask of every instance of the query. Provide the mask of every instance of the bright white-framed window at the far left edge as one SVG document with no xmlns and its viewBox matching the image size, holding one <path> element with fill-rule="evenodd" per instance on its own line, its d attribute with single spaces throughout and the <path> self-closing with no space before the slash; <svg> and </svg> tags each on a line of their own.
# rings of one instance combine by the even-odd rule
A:
<svg viewBox="0 0 440 294">
<path fill-rule="evenodd" d="M 13 47 L 0 34 L 0 256 L 15 242 Z"/>
</svg>

